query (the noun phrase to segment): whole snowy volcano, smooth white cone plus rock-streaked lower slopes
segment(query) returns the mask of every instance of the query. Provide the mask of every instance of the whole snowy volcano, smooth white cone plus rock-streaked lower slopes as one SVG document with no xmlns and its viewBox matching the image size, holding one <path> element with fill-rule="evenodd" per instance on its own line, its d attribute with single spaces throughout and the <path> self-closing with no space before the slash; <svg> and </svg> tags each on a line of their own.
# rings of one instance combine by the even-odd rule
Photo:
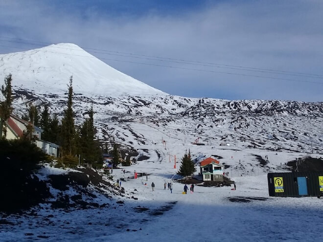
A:
<svg viewBox="0 0 323 242">
<path fill-rule="evenodd" d="M 167 95 L 73 44 L 1 55 L 0 75 L 9 72 L 13 75 L 14 112 L 19 116 L 33 102 L 41 109 L 49 104 L 51 113 L 62 117 L 72 74 L 76 124 L 83 122 L 93 105 L 102 143 L 117 142 L 137 150 L 137 158 L 147 161 L 168 161 L 174 155 L 180 159 L 188 149 L 195 157 L 223 157 L 220 153 L 226 149 L 229 152 L 223 162 L 236 166 L 231 153 L 245 148 L 251 149 L 246 156 L 254 165 L 258 164 L 254 154 L 262 151 L 323 153 L 323 103 Z M 196 140 L 204 145 L 192 144 Z M 263 170 L 274 168 L 267 164 Z"/>
</svg>

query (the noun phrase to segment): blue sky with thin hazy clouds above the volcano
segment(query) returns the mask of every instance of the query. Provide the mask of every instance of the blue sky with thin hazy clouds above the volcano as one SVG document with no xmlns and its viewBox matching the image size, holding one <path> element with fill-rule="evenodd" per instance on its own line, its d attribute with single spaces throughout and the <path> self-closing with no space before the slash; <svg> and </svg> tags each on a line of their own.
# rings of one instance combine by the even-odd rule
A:
<svg viewBox="0 0 323 242">
<path fill-rule="evenodd" d="M 322 13 L 322 0 L 3 0 L 0 53 L 74 43 L 174 95 L 323 101 Z"/>
</svg>

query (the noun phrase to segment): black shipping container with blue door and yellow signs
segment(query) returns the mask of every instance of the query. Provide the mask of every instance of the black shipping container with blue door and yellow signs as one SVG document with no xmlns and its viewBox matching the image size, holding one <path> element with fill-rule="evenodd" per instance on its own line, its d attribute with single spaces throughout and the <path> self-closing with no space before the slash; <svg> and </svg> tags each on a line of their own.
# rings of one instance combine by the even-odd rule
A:
<svg viewBox="0 0 323 242">
<path fill-rule="evenodd" d="M 271 197 L 322 197 L 323 172 L 285 172 L 268 174 Z"/>
</svg>

